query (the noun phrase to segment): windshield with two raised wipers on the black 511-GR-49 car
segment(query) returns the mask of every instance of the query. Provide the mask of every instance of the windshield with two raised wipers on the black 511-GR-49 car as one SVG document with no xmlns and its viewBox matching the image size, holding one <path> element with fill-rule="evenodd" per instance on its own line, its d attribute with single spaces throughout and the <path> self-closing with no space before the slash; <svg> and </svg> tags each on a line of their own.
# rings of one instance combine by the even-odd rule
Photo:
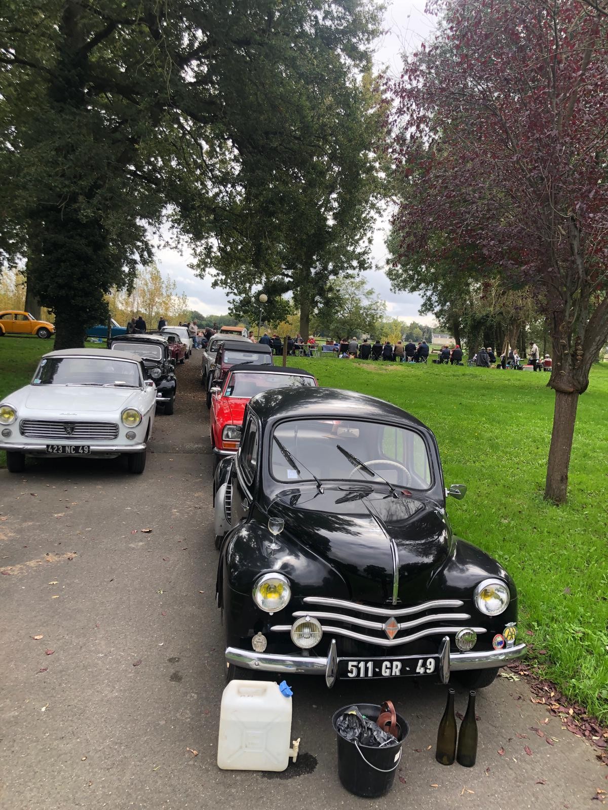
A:
<svg viewBox="0 0 608 810">
<path fill-rule="evenodd" d="M 422 436 L 392 424 L 359 420 L 290 420 L 272 434 L 271 471 L 276 480 L 354 480 L 413 489 L 432 483 Z"/>
</svg>

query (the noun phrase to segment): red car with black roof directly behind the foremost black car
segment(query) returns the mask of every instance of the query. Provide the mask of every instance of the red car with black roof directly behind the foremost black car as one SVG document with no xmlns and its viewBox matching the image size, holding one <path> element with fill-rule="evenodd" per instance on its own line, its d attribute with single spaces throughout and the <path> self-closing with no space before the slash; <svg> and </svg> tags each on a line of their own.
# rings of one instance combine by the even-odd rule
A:
<svg viewBox="0 0 608 810">
<path fill-rule="evenodd" d="M 234 365 L 222 385 L 211 390 L 209 429 L 213 448 L 213 468 L 222 456 L 237 452 L 246 404 L 255 394 L 272 388 L 318 387 L 315 377 L 304 369 L 270 365 Z"/>
</svg>

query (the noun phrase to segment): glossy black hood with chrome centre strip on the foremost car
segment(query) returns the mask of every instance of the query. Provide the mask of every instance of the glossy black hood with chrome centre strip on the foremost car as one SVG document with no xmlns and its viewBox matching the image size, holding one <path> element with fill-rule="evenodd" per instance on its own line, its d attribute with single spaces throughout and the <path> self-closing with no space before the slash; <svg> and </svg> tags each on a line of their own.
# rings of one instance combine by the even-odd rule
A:
<svg viewBox="0 0 608 810">
<path fill-rule="evenodd" d="M 293 540 L 336 569 L 353 601 L 392 600 L 398 557 L 398 597 L 422 592 L 452 553 L 452 533 L 443 509 L 416 497 L 391 497 L 372 488 L 325 489 L 323 495 L 294 490 L 272 503 L 269 514 L 285 520 Z M 286 539 L 286 538 L 285 538 Z"/>
</svg>

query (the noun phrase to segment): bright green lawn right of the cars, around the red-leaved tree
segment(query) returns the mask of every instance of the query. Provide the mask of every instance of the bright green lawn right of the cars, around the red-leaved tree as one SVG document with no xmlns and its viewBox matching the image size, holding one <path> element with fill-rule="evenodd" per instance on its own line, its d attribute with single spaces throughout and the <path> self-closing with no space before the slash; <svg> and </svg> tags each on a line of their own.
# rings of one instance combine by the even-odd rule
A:
<svg viewBox="0 0 608 810">
<path fill-rule="evenodd" d="M 547 677 L 608 721 L 608 367 L 580 397 L 567 505 L 543 501 L 554 394 L 548 374 L 466 366 L 289 358 L 322 386 L 361 391 L 434 431 L 452 527 L 495 556 L 520 594 L 520 638 Z M 526 630 L 532 631 L 529 636 Z"/>
</svg>

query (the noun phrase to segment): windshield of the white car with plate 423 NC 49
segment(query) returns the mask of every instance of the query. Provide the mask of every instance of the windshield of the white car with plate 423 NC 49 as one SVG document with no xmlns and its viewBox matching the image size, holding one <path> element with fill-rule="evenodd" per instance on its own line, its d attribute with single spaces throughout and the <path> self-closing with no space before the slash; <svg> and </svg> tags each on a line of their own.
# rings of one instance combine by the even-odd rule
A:
<svg viewBox="0 0 608 810">
<path fill-rule="evenodd" d="M 43 357 L 32 386 L 119 386 L 139 388 L 139 366 L 109 357 Z"/>
</svg>

